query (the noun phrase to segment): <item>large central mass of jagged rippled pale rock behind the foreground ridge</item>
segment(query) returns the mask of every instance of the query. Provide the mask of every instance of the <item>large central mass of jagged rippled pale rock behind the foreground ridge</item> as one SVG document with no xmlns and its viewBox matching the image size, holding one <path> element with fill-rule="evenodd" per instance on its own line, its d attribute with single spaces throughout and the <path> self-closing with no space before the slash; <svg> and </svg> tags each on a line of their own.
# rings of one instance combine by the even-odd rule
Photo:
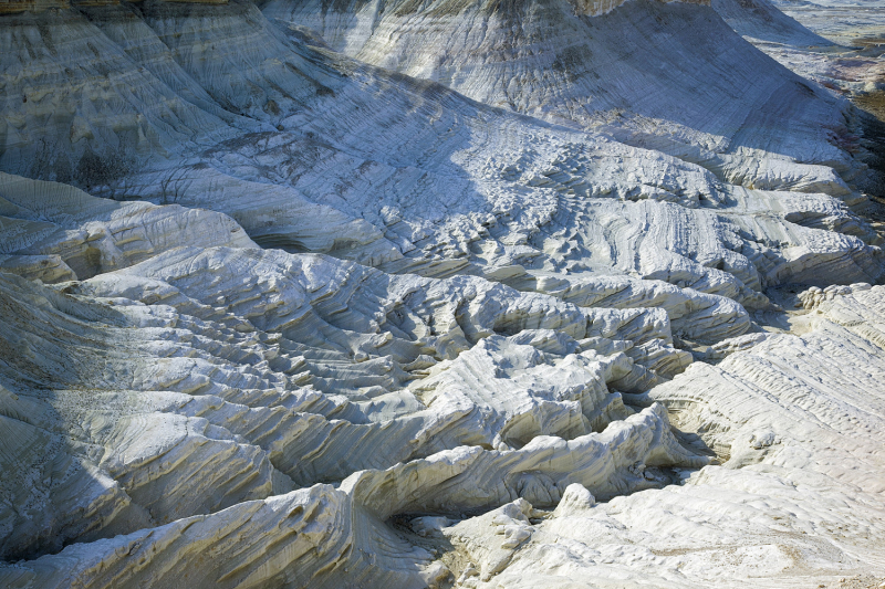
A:
<svg viewBox="0 0 885 589">
<path fill-rule="evenodd" d="M 666 425 L 648 438 L 644 423 L 666 416 L 629 417 L 606 389 L 638 391 L 684 368 L 666 360 L 680 353 L 663 313 L 582 309 L 481 278 L 389 276 L 257 249 L 174 249 L 54 290 L 0 281 L 2 347 L 19 350 L 0 376 L 6 558 L 464 444 L 490 450 L 456 452 L 450 471 L 511 481 L 490 483 L 464 508 L 563 477 L 600 494 L 646 485 L 627 470 L 635 452 L 667 464 L 705 460 Z M 465 389 L 464 379 L 478 381 Z M 520 402 L 470 395 L 514 381 L 525 386 Z M 539 445 L 545 433 L 571 445 Z M 507 474 L 540 456 L 538 483 Z M 409 478 L 398 469 L 384 476 Z M 381 509 L 387 499 L 357 480 L 361 508 Z M 445 486 L 437 498 L 403 493 L 426 508 L 455 501 Z"/>
</svg>

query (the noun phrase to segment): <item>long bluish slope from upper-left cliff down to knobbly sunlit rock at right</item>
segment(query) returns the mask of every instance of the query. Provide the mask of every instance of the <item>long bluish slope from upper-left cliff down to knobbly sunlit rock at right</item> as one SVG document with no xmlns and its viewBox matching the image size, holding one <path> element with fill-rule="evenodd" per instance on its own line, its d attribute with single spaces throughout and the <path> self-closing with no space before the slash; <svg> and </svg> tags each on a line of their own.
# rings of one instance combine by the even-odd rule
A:
<svg viewBox="0 0 885 589">
<path fill-rule="evenodd" d="M 683 9 L 693 19 L 701 17 L 690 11 L 708 11 Z M 70 179 L 115 199 L 208 208 L 230 215 L 264 246 L 429 276 L 516 280 L 521 267 L 592 273 L 592 280 L 663 280 L 749 306 L 764 306 L 762 291 L 771 283 L 875 282 L 882 274 L 877 238 L 851 209 L 865 197 L 825 166 L 795 176 L 794 164 L 768 158 L 730 180 L 752 189 L 725 183 L 686 158 L 508 114 L 313 48 L 248 2 L 4 18 L 7 30 L 30 31 L 29 42 L 40 48 L 31 57 L 18 51 L 15 35 L 6 38 L 6 98 L 27 98 L 33 80 L 51 87 L 27 102 L 9 102 L 21 119 L 0 124 L 42 129 L 34 133 L 45 141 L 62 141 L 44 148 L 37 138 L 10 139 L 0 155 L 4 169 Z M 56 38 L 69 43 L 64 51 Z M 92 52 L 90 39 L 102 39 L 103 50 Z M 739 38 L 729 42 L 762 59 Z M 730 66 L 698 67 L 732 83 Z M 67 81 L 65 69 L 82 78 Z M 143 107 L 127 98 L 132 88 L 107 85 L 128 80 L 131 72 L 139 82 L 127 84 L 138 92 L 160 88 L 176 96 L 153 97 L 152 104 L 181 102 L 186 112 L 173 117 Z M 236 81 L 219 72 L 236 72 Z M 93 105 L 94 95 L 116 96 L 115 112 L 139 120 L 139 133 L 153 143 L 127 151 L 133 144 L 123 135 L 102 135 L 126 127 L 105 125 L 106 103 Z M 383 108 L 376 106 L 379 96 Z M 841 117 L 826 96 L 803 101 Z M 751 97 L 747 103 L 740 108 L 766 111 Z M 79 104 L 91 106 L 77 109 Z M 101 133 L 66 147 L 72 123 L 58 113 L 67 109 Z M 787 127 L 769 134 L 777 138 L 771 140 L 812 145 L 803 143 L 805 123 L 796 116 L 778 115 Z M 187 125 L 174 123 L 176 117 Z M 814 120 L 815 137 L 832 151 L 820 162 L 844 167 L 839 162 L 850 162 L 850 156 L 827 143 L 820 123 Z M 179 137 L 185 128 L 192 133 Z"/>
</svg>

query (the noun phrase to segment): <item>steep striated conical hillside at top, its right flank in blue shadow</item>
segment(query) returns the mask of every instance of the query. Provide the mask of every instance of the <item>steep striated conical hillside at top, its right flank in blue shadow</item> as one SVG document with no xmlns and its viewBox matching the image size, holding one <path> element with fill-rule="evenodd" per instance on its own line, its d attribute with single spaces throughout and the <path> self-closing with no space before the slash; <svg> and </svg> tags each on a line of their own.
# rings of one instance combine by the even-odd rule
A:
<svg viewBox="0 0 885 589">
<path fill-rule="evenodd" d="M 561 0 L 272 0 L 263 11 L 358 60 L 663 150 L 730 182 L 840 185 L 831 168 L 851 168 L 830 130 L 844 127 L 847 104 L 753 50 L 709 7 L 642 1 L 587 15 Z"/>
</svg>

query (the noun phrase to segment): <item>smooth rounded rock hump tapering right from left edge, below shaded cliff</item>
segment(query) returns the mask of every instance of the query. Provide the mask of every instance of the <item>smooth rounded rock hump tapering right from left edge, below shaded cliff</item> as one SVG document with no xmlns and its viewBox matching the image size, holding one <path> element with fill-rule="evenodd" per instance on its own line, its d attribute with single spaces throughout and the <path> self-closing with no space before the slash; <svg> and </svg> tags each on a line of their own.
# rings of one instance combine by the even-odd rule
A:
<svg viewBox="0 0 885 589">
<path fill-rule="evenodd" d="M 211 211 L 114 202 L 0 172 L 0 269 L 53 283 L 131 266 L 183 245 L 257 248 Z"/>
</svg>

